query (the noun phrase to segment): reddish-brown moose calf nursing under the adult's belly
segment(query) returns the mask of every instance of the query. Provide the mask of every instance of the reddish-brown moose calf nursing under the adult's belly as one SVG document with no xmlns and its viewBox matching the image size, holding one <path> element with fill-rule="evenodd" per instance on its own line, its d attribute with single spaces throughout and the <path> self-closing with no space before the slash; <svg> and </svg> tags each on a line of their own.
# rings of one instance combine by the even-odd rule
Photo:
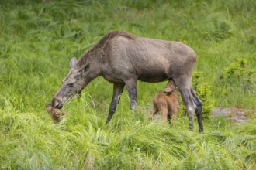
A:
<svg viewBox="0 0 256 170">
<path fill-rule="evenodd" d="M 176 116 L 180 109 L 178 93 L 172 80 L 169 81 L 164 90 L 154 95 L 153 105 L 150 119 L 154 118 L 157 112 L 159 112 L 161 114 L 163 124 L 167 121 L 167 119 L 171 124 L 171 117 Z"/>
</svg>

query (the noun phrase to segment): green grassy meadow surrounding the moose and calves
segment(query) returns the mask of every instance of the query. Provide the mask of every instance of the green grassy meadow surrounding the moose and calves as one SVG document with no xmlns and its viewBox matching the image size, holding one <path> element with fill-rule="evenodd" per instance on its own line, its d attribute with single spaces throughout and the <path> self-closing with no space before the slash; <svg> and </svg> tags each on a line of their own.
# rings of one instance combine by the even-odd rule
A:
<svg viewBox="0 0 256 170">
<path fill-rule="evenodd" d="M 256 2 L 254 0 L 2 0 L 0 169 L 255 169 Z M 102 77 L 65 104 L 54 124 L 45 105 L 80 57 L 106 32 L 183 42 L 199 58 L 193 84 L 204 100 L 205 132 L 182 110 L 171 126 L 148 121 L 164 83 L 126 88 L 105 124 L 112 84 Z M 247 124 L 210 116 L 212 107 L 253 110 Z"/>
</svg>

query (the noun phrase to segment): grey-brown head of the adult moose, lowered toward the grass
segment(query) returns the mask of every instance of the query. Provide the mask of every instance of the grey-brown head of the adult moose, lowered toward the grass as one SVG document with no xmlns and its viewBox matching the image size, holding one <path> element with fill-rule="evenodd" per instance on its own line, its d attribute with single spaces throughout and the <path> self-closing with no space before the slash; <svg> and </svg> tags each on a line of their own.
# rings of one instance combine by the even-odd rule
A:
<svg viewBox="0 0 256 170">
<path fill-rule="evenodd" d="M 64 103 L 74 97 L 74 95 L 81 94 L 81 90 L 85 87 L 86 75 L 90 65 L 76 66 L 77 59 L 74 57 L 70 62 L 70 70 L 67 76 L 62 80 L 62 87 L 57 90 L 52 100 L 54 108 L 61 109 Z"/>
</svg>

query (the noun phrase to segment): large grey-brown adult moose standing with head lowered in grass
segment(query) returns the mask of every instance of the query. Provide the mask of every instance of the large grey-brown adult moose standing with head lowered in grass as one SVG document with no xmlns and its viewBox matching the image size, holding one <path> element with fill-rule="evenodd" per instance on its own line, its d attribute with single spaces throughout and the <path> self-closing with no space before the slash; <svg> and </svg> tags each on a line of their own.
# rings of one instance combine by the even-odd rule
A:
<svg viewBox="0 0 256 170">
<path fill-rule="evenodd" d="M 195 113 L 199 131 L 202 132 L 202 102 L 192 88 L 196 58 L 193 49 L 181 42 L 138 37 L 127 32 L 109 32 L 78 61 L 71 59 L 70 71 L 55 93 L 52 106 L 61 109 L 67 100 L 80 94 L 95 77 L 103 76 L 113 83 L 108 123 L 125 85 L 130 108 L 134 110 L 137 107 L 137 80 L 156 83 L 172 78 L 187 108 L 189 129 L 193 128 Z"/>
</svg>

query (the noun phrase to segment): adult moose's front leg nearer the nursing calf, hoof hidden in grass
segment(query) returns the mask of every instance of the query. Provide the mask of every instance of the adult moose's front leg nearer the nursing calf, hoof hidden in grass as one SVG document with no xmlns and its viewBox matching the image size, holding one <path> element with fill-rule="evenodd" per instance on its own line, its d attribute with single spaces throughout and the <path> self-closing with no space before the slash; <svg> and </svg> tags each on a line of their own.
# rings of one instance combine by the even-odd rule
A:
<svg viewBox="0 0 256 170">
<path fill-rule="evenodd" d="M 130 98 L 130 109 L 135 110 L 137 107 L 137 84 L 136 80 L 126 81 L 127 90 Z"/>
</svg>

